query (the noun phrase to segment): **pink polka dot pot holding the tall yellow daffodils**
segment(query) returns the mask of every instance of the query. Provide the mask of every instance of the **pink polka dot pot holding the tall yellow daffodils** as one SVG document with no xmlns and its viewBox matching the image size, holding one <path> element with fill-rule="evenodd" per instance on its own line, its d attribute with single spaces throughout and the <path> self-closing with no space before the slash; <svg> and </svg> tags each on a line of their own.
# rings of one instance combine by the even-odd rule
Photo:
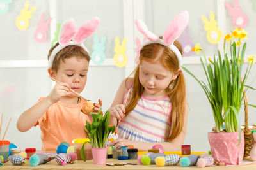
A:
<svg viewBox="0 0 256 170">
<path fill-rule="evenodd" d="M 212 157 L 217 162 L 225 164 L 241 164 L 244 156 L 244 133 L 239 132 L 208 133 Z M 239 144 L 239 145 L 238 145 Z"/>
</svg>

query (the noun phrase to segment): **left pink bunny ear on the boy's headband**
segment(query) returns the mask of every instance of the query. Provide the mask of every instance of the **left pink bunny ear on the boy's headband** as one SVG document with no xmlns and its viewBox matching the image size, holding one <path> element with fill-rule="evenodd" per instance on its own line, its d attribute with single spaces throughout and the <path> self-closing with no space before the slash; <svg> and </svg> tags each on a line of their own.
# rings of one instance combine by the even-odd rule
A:
<svg viewBox="0 0 256 170">
<path fill-rule="evenodd" d="M 67 44 L 76 34 L 76 22 L 73 19 L 65 21 L 60 28 L 59 43 L 61 46 Z"/>
</svg>

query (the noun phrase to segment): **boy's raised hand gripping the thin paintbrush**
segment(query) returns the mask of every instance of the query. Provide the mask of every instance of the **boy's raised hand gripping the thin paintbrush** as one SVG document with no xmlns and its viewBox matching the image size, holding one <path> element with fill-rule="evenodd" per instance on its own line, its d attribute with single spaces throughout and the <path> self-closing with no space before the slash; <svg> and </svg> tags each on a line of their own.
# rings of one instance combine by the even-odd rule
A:
<svg viewBox="0 0 256 170">
<path fill-rule="evenodd" d="M 72 94 L 69 89 L 70 86 L 67 83 L 56 83 L 56 85 L 47 97 L 52 103 L 56 103 L 60 101 L 61 97 Z"/>
</svg>

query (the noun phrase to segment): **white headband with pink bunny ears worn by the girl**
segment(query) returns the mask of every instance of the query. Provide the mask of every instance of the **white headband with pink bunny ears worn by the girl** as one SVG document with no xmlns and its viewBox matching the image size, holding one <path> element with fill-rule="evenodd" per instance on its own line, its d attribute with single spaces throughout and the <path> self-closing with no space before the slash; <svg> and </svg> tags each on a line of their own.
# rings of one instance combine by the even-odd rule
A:
<svg viewBox="0 0 256 170">
<path fill-rule="evenodd" d="M 138 31 L 140 31 L 142 34 L 144 34 L 144 36 L 148 38 L 147 41 L 143 43 L 142 47 L 148 44 L 153 44 L 153 43 L 159 43 L 161 45 L 167 46 L 177 56 L 179 60 L 179 67 L 181 68 L 182 55 L 179 49 L 175 45 L 173 45 L 173 43 L 176 39 L 179 38 L 180 34 L 184 31 L 184 29 L 188 25 L 188 20 L 189 20 L 188 11 L 182 11 L 179 15 L 173 18 L 173 20 L 168 24 L 168 26 L 164 31 L 164 36 L 162 40 L 158 36 L 153 34 L 151 31 L 149 31 L 147 25 L 144 22 L 136 19 L 135 24 L 138 28 Z"/>
</svg>

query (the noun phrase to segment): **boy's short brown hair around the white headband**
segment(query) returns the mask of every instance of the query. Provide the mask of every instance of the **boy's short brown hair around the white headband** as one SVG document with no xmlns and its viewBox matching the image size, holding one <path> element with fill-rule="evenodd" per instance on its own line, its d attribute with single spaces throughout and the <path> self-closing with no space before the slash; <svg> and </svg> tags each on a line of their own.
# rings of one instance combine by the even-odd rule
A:
<svg viewBox="0 0 256 170">
<path fill-rule="evenodd" d="M 56 43 L 56 45 L 52 46 L 52 48 L 49 50 L 48 60 L 51 56 L 52 51 L 58 45 L 59 45 L 59 43 Z M 86 50 L 84 50 L 84 48 L 82 48 L 81 46 L 78 46 L 78 45 L 69 45 L 69 46 L 66 46 L 65 48 L 63 48 L 62 50 L 60 50 L 60 52 L 58 52 L 56 54 L 56 56 L 54 57 L 54 60 L 52 62 L 52 70 L 57 72 L 60 67 L 60 61 L 62 60 L 63 62 L 65 62 L 65 59 L 68 59 L 73 56 L 86 59 L 88 61 L 88 64 L 91 60 L 91 57 L 88 55 L 88 52 L 86 52 Z"/>
</svg>

